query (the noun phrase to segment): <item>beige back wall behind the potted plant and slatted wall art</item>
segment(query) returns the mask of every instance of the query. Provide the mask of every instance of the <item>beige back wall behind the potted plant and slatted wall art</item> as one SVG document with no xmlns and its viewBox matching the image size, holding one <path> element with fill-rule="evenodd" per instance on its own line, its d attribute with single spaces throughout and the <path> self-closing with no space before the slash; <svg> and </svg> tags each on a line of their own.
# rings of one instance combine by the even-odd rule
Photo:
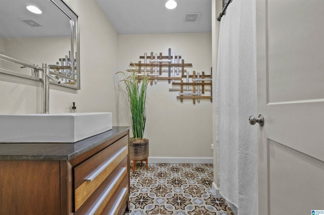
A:
<svg viewBox="0 0 324 215">
<path fill-rule="evenodd" d="M 125 71 L 130 62 L 138 62 L 144 52 L 150 55 L 168 49 L 192 63 L 188 71 L 210 74 L 212 34 L 143 34 L 119 35 L 118 69 Z M 212 157 L 212 102 L 177 100 L 179 92 L 169 92 L 172 85 L 159 80 L 148 87 L 147 122 L 144 136 L 150 140 L 150 157 Z M 119 91 L 120 92 L 120 91 Z M 119 93 L 117 103 L 120 125 L 130 125 L 125 97 Z M 124 102 L 124 103 L 123 103 Z"/>
</svg>

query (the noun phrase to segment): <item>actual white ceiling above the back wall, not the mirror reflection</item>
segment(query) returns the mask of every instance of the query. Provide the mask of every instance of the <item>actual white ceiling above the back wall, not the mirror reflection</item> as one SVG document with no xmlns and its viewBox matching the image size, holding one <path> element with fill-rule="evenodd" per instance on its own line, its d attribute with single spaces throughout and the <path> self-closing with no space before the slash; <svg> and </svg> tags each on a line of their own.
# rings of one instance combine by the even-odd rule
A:
<svg viewBox="0 0 324 215">
<path fill-rule="evenodd" d="M 97 0 L 118 34 L 193 33 L 212 31 L 212 0 Z M 187 13 L 200 13 L 197 22 L 184 22 Z"/>
</svg>

